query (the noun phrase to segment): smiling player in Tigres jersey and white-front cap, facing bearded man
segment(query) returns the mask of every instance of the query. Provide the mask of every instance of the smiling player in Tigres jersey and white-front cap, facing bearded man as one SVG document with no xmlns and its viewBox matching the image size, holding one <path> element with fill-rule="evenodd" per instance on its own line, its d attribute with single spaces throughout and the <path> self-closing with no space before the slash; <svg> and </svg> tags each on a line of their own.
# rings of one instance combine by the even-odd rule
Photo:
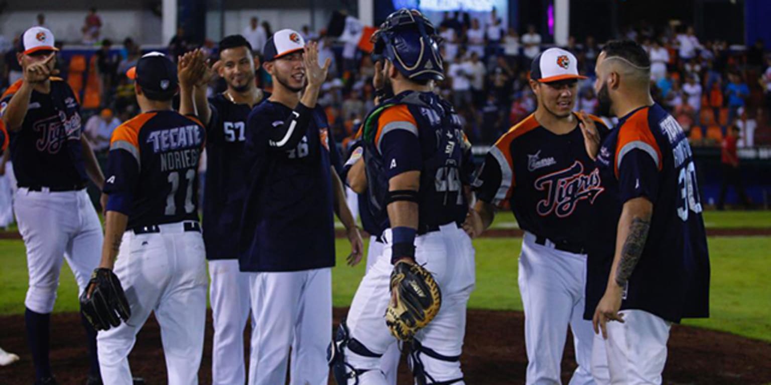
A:
<svg viewBox="0 0 771 385">
<path fill-rule="evenodd" d="M 584 139 L 608 129 L 594 116 L 573 111 L 578 79 L 571 52 L 552 48 L 530 69 L 536 111 L 513 126 L 487 152 L 474 182 L 479 199 L 466 226 L 478 235 L 493 222 L 495 206 L 508 202 L 524 230 L 519 286 L 525 313 L 528 384 L 561 383 L 565 330 L 571 327 L 578 367 L 571 384 L 591 378 L 591 323 L 583 319 L 588 237 L 584 222 L 602 192 Z M 595 124 L 595 122 L 597 122 Z M 596 129 L 599 127 L 599 129 Z M 589 134 L 587 134 L 589 135 Z"/>
</svg>

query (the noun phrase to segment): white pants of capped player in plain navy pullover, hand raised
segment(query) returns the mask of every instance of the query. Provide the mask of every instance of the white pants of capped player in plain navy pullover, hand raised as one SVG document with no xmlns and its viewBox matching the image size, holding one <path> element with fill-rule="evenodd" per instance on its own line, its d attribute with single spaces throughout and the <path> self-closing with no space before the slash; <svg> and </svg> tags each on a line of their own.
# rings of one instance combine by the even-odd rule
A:
<svg viewBox="0 0 771 385">
<path fill-rule="evenodd" d="M 326 385 L 332 340 L 332 269 L 249 273 L 257 327 L 251 333 L 249 385 Z"/>
</svg>

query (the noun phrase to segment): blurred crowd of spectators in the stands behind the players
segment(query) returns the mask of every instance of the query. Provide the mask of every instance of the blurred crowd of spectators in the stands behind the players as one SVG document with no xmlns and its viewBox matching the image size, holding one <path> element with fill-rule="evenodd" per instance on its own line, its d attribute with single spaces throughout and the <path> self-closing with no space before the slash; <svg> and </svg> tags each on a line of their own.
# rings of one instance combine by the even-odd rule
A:
<svg viewBox="0 0 771 385">
<path fill-rule="evenodd" d="M 90 42 L 86 32 L 90 32 L 89 37 L 98 36 L 98 19 L 96 9 L 90 10 L 83 27 L 84 42 Z M 44 23 L 41 14 L 38 24 Z M 447 78 L 437 84 L 436 92 L 453 101 L 472 142 L 491 143 L 534 110 L 528 83 L 530 62 L 549 45 L 534 25 L 527 25 L 521 34 L 504 27 L 494 10 L 483 18 L 446 12 L 437 25 Z M 336 42 L 325 29 L 317 33 L 306 25 L 301 33 L 306 40 L 320 41 L 321 60 L 333 60 L 319 102 L 327 109 L 335 139 L 344 144 L 372 109 L 372 61 L 355 44 Z M 261 55 L 271 25 L 252 17 L 242 35 L 253 45 L 255 55 Z M 695 146 L 719 146 L 732 126 L 739 129 L 739 147 L 771 145 L 771 121 L 767 118 L 771 109 L 771 57 L 762 41 L 746 48 L 729 46 L 725 41 L 699 39 L 689 26 L 653 27 L 645 22 L 621 32 L 620 37 L 634 39 L 648 49 L 655 99 L 672 111 Z M 133 87 L 125 72 L 143 52 L 131 38 L 124 39 L 122 45 L 110 39 L 96 44 L 99 49 L 90 58 L 59 60 L 60 76 L 86 99 L 82 100 L 85 121 L 90 120 L 92 128 L 99 127 L 87 130 L 95 144 L 99 136 L 109 137 L 116 122 L 136 113 Z M 216 43 L 206 40 L 203 45 L 216 60 Z M 18 46 L 18 37 L 12 43 L 8 37 L 0 39 L 0 90 L 21 76 L 15 58 Z M 168 52 L 176 56 L 194 48 L 179 28 Z M 579 85 L 576 109 L 594 112 L 594 62 L 601 42 L 591 36 L 583 42 L 571 37 L 564 48 L 574 52 L 581 74 L 588 76 Z M 258 82 L 271 88 L 269 76 L 262 70 Z M 211 93 L 222 90 L 221 79 L 210 85 Z"/>
</svg>

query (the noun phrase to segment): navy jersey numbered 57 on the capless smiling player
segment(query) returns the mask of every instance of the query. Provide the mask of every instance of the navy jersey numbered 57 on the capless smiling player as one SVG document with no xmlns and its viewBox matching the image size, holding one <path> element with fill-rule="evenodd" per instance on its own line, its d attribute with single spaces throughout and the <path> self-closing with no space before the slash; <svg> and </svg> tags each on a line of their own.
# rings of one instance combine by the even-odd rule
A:
<svg viewBox="0 0 771 385">
<path fill-rule="evenodd" d="M 244 209 L 243 162 L 251 106 L 222 94 L 209 99 L 204 183 L 204 243 L 207 259 L 237 259 L 238 226 Z"/>
</svg>

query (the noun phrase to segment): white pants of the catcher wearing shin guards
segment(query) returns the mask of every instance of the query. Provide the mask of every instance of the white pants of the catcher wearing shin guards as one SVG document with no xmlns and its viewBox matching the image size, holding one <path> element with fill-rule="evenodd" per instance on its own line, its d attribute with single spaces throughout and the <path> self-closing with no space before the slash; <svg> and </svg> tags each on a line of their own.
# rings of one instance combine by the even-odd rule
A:
<svg viewBox="0 0 771 385">
<path fill-rule="evenodd" d="M 396 338 L 385 326 L 385 308 L 390 300 L 391 230 L 383 233 L 383 252 L 367 271 L 348 311 L 350 336 L 373 353 L 385 353 L 396 345 Z M 416 335 L 424 347 L 446 357 L 460 356 L 466 333 L 466 303 L 474 288 L 474 250 L 471 239 L 454 223 L 439 231 L 417 236 L 415 257 L 433 274 L 442 290 L 442 306 L 436 317 Z M 420 355 L 423 366 L 436 381 L 463 377 L 460 361 L 437 360 Z M 369 370 L 359 383 L 387 385 L 380 373 L 381 359 L 364 357 L 345 349 L 345 361 L 359 370 Z M 463 384 L 463 381 L 457 384 Z"/>
</svg>

